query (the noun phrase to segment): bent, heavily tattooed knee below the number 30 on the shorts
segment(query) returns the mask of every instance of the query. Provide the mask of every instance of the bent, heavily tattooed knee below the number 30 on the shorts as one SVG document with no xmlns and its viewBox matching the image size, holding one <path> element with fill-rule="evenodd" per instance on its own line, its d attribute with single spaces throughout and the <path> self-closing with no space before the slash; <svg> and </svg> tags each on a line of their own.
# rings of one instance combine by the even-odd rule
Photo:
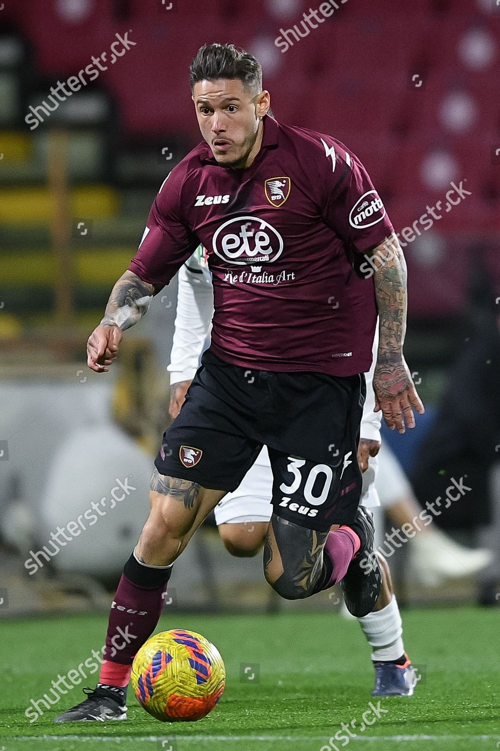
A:
<svg viewBox="0 0 500 751">
<path fill-rule="evenodd" d="M 330 562 L 323 556 L 329 533 L 273 514 L 264 544 L 264 574 L 273 590 L 285 599 L 297 600 L 321 589 L 318 584 L 331 575 Z"/>
</svg>

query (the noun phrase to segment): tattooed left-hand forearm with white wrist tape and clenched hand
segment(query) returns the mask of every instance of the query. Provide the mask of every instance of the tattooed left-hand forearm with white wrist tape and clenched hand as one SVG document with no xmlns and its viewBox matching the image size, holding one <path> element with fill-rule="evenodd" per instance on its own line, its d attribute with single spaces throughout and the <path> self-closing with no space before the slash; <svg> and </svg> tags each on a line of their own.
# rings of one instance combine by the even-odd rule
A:
<svg viewBox="0 0 500 751">
<path fill-rule="evenodd" d="M 87 365 L 95 372 L 107 372 L 116 359 L 123 332 L 146 313 L 152 296 L 159 291 L 132 271 L 125 271 L 113 287 L 101 323 L 87 342 Z"/>
</svg>

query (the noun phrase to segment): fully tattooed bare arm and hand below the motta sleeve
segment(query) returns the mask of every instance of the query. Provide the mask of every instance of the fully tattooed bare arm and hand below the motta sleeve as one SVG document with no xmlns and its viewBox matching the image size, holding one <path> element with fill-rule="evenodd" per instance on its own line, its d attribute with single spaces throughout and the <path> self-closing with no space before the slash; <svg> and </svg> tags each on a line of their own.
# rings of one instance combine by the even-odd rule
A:
<svg viewBox="0 0 500 751">
<path fill-rule="evenodd" d="M 375 297 L 380 319 L 378 357 L 373 375 L 375 412 L 381 410 L 391 430 L 415 426 L 412 406 L 420 414 L 418 397 L 402 354 L 406 329 L 406 264 L 401 246 L 392 235 L 372 253 L 375 261 Z"/>
</svg>

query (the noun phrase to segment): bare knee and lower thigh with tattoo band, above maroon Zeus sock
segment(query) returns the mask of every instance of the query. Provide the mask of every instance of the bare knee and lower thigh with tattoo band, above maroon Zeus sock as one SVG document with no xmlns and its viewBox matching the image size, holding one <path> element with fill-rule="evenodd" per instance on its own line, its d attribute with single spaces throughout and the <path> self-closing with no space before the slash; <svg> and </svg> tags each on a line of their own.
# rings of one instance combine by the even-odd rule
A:
<svg viewBox="0 0 500 751">
<path fill-rule="evenodd" d="M 135 549 L 137 557 L 149 566 L 169 566 L 225 493 L 160 475 L 155 468 L 149 493 L 151 510 Z"/>
</svg>

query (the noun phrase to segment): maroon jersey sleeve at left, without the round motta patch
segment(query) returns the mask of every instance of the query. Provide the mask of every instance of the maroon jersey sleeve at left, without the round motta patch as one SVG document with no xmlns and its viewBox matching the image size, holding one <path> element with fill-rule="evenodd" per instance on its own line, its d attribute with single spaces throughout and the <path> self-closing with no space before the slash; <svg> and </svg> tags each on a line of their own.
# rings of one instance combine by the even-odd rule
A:
<svg viewBox="0 0 500 751">
<path fill-rule="evenodd" d="M 176 167 L 164 180 L 149 212 L 139 249 L 129 271 L 149 284 L 164 287 L 200 244 L 182 222 L 182 170 Z"/>
</svg>

